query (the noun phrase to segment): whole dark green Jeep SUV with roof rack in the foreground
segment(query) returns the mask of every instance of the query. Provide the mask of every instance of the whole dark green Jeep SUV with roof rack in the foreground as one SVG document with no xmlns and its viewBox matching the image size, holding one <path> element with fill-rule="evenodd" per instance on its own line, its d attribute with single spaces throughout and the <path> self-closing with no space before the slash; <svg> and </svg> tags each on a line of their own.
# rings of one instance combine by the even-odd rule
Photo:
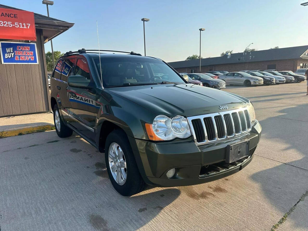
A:
<svg viewBox="0 0 308 231">
<path fill-rule="evenodd" d="M 74 131 L 105 153 L 117 192 L 201 184 L 252 160 L 261 126 L 248 99 L 187 83 L 158 58 L 101 52 L 60 57 L 51 106 L 58 136 Z"/>
</svg>

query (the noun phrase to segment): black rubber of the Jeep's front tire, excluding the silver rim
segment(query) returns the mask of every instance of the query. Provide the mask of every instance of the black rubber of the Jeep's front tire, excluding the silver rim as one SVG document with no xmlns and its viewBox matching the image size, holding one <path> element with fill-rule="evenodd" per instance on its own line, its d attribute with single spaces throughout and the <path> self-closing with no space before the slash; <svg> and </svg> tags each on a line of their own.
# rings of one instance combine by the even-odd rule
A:
<svg viewBox="0 0 308 231">
<path fill-rule="evenodd" d="M 108 156 L 109 147 L 112 143 L 116 143 L 120 146 L 125 157 L 127 175 L 126 181 L 123 185 L 118 184 L 111 174 Z M 144 190 L 146 184 L 138 170 L 138 166 L 132 151 L 132 147 L 129 144 L 127 135 L 123 131 L 114 130 L 107 136 L 105 144 L 105 161 L 111 184 L 113 185 L 115 190 L 122 196 L 132 196 Z"/>
</svg>

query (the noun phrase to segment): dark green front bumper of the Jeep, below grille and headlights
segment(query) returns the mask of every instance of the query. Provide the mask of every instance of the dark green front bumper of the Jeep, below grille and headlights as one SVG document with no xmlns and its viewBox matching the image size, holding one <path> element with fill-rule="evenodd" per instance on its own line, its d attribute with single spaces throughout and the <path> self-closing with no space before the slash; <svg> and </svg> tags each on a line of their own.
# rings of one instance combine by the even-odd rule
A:
<svg viewBox="0 0 308 231">
<path fill-rule="evenodd" d="M 200 146 L 197 146 L 192 138 L 172 142 L 130 138 L 130 142 L 144 181 L 150 185 L 174 187 L 202 184 L 240 171 L 252 160 L 261 138 L 261 130 L 261 125 L 256 120 L 251 131 L 242 136 Z M 227 145 L 247 139 L 249 156 L 227 164 Z M 166 173 L 171 168 L 176 168 L 176 174 L 170 179 Z"/>
</svg>

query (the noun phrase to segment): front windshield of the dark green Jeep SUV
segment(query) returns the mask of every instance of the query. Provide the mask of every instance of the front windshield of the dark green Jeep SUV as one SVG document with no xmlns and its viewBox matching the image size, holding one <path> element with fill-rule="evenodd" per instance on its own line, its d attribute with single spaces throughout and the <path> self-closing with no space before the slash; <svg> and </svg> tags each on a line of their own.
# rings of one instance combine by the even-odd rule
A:
<svg viewBox="0 0 308 231">
<path fill-rule="evenodd" d="M 185 83 L 163 61 L 144 58 L 94 58 L 99 77 L 102 70 L 104 87 Z M 99 78 L 100 79 L 100 78 Z"/>
</svg>

